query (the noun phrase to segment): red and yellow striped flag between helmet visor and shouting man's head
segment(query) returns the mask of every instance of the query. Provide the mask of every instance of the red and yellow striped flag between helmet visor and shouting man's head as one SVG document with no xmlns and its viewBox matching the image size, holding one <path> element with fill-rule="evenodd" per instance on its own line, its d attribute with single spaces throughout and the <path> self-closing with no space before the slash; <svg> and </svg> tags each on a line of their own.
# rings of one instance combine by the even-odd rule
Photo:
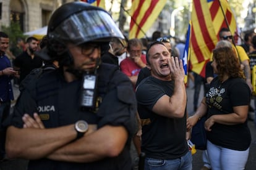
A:
<svg viewBox="0 0 256 170">
<path fill-rule="evenodd" d="M 143 38 L 165 3 L 166 0 L 132 0 L 129 39 Z"/>
</svg>

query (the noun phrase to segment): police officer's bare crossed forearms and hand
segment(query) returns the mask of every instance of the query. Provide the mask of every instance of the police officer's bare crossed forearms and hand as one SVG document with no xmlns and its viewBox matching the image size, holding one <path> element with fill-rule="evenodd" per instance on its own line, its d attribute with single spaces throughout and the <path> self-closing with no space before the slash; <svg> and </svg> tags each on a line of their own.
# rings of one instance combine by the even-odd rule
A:
<svg viewBox="0 0 256 170">
<path fill-rule="evenodd" d="M 103 126 L 89 131 L 75 140 L 74 124 L 45 129 L 39 116 L 23 116 L 23 128 L 10 126 L 7 129 L 6 152 L 9 158 L 36 160 L 49 158 L 58 161 L 87 163 L 121 153 L 128 138 L 123 126 Z"/>
</svg>

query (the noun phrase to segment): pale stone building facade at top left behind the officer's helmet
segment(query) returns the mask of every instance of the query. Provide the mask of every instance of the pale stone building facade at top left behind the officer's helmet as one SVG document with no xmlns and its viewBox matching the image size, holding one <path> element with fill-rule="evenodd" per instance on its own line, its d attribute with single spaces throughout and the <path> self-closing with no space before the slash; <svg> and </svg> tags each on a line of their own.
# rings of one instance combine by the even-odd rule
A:
<svg viewBox="0 0 256 170">
<path fill-rule="evenodd" d="M 46 26 L 53 11 L 70 1 L 0 0 L 0 30 L 2 26 L 9 26 L 12 21 L 18 22 L 23 32 Z"/>
</svg>

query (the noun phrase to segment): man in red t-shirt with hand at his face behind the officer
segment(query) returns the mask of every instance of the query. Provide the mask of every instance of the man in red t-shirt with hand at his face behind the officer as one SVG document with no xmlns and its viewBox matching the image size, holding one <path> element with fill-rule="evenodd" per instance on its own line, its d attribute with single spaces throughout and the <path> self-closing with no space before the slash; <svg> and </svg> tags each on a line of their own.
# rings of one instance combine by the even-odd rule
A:
<svg viewBox="0 0 256 170">
<path fill-rule="evenodd" d="M 142 54 L 142 42 L 140 39 L 129 39 L 127 51 L 129 57 L 122 60 L 120 68 L 135 86 L 140 70 L 146 67 L 146 56 Z"/>
</svg>

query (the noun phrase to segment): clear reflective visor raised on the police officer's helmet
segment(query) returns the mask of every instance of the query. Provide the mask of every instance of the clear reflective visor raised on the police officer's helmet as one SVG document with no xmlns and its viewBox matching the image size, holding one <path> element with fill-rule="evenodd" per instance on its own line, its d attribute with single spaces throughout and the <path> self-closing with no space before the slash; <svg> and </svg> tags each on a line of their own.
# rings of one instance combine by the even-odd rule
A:
<svg viewBox="0 0 256 170">
<path fill-rule="evenodd" d="M 59 42 L 74 45 L 89 41 L 109 41 L 114 37 L 124 39 L 111 16 L 103 10 L 83 10 L 70 15 L 48 35 Z"/>
</svg>

